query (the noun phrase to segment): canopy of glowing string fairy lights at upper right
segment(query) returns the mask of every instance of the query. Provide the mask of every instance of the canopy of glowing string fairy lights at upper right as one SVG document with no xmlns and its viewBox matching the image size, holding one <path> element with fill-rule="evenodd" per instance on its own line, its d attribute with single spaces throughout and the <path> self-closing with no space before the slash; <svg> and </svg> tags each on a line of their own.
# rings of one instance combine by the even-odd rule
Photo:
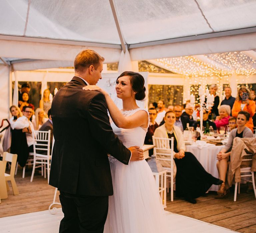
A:
<svg viewBox="0 0 256 233">
<path fill-rule="evenodd" d="M 222 85 L 230 83 L 229 77 L 232 74 L 244 75 L 246 85 L 248 77 L 256 74 L 256 61 L 242 52 L 163 58 L 156 61 L 167 70 L 184 75 L 188 81 L 186 83 L 189 83 L 195 92 L 201 85 L 216 84 L 220 94 Z"/>
</svg>

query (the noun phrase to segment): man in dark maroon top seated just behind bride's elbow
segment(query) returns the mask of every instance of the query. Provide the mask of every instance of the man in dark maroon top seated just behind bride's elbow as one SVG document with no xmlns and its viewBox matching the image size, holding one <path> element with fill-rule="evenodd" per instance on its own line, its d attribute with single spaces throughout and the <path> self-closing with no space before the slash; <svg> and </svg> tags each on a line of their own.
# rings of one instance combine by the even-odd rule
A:
<svg viewBox="0 0 256 233">
<path fill-rule="evenodd" d="M 157 112 L 155 108 L 150 108 L 148 112 L 149 112 L 150 122 L 149 122 L 148 131 L 145 136 L 144 144 L 153 145 L 152 136 L 154 135 L 154 132 L 158 127 L 158 124 L 155 122 Z M 150 149 L 148 153 L 149 153 L 149 156 L 151 157 L 151 155 L 153 154 L 153 149 Z"/>
</svg>

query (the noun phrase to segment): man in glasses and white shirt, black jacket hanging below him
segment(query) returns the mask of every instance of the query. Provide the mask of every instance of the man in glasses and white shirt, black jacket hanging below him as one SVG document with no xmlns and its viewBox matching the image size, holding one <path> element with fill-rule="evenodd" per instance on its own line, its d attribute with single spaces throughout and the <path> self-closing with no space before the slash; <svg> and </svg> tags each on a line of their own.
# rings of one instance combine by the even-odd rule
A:
<svg viewBox="0 0 256 233">
<path fill-rule="evenodd" d="M 23 107 L 23 116 L 19 117 L 13 124 L 11 153 L 18 154 L 18 163 L 24 167 L 29 152 L 33 152 L 32 122 L 29 120 L 33 110 L 29 106 Z"/>
</svg>

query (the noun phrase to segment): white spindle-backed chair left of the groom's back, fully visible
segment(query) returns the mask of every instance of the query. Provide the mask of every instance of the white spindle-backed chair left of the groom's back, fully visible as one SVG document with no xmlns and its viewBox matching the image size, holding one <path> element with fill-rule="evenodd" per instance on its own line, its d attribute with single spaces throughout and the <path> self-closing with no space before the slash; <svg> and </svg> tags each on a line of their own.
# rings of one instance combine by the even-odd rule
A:
<svg viewBox="0 0 256 233">
<path fill-rule="evenodd" d="M 35 169 L 37 167 L 44 168 L 44 177 L 46 178 L 47 169 L 47 180 L 49 183 L 50 176 L 50 142 L 51 142 L 51 130 L 48 131 L 33 131 L 35 138 L 33 138 L 33 148 L 34 148 L 34 160 L 33 160 L 33 170 L 30 182 L 33 181 Z M 45 151 L 45 153 L 44 153 Z"/>
</svg>

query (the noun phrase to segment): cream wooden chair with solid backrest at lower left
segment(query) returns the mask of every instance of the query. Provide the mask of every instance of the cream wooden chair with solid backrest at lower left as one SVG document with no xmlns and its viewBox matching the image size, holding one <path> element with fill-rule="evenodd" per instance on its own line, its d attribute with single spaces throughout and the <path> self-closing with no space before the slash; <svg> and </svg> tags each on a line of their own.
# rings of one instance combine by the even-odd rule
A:
<svg viewBox="0 0 256 233">
<path fill-rule="evenodd" d="M 12 191 L 13 191 L 14 195 L 19 194 L 16 182 L 15 182 L 15 179 L 14 179 L 17 156 L 18 156 L 17 154 L 11 154 L 11 153 L 8 153 L 8 152 L 3 153 L 4 169 L 6 168 L 6 163 L 11 162 L 10 174 L 4 173 L 5 181 L 6 181 L 6 187 L 7 187 L 7 190 L 9 190 L 9 185 L 8 185 L 7 181 L 11 181 Z"/>
</svg>

